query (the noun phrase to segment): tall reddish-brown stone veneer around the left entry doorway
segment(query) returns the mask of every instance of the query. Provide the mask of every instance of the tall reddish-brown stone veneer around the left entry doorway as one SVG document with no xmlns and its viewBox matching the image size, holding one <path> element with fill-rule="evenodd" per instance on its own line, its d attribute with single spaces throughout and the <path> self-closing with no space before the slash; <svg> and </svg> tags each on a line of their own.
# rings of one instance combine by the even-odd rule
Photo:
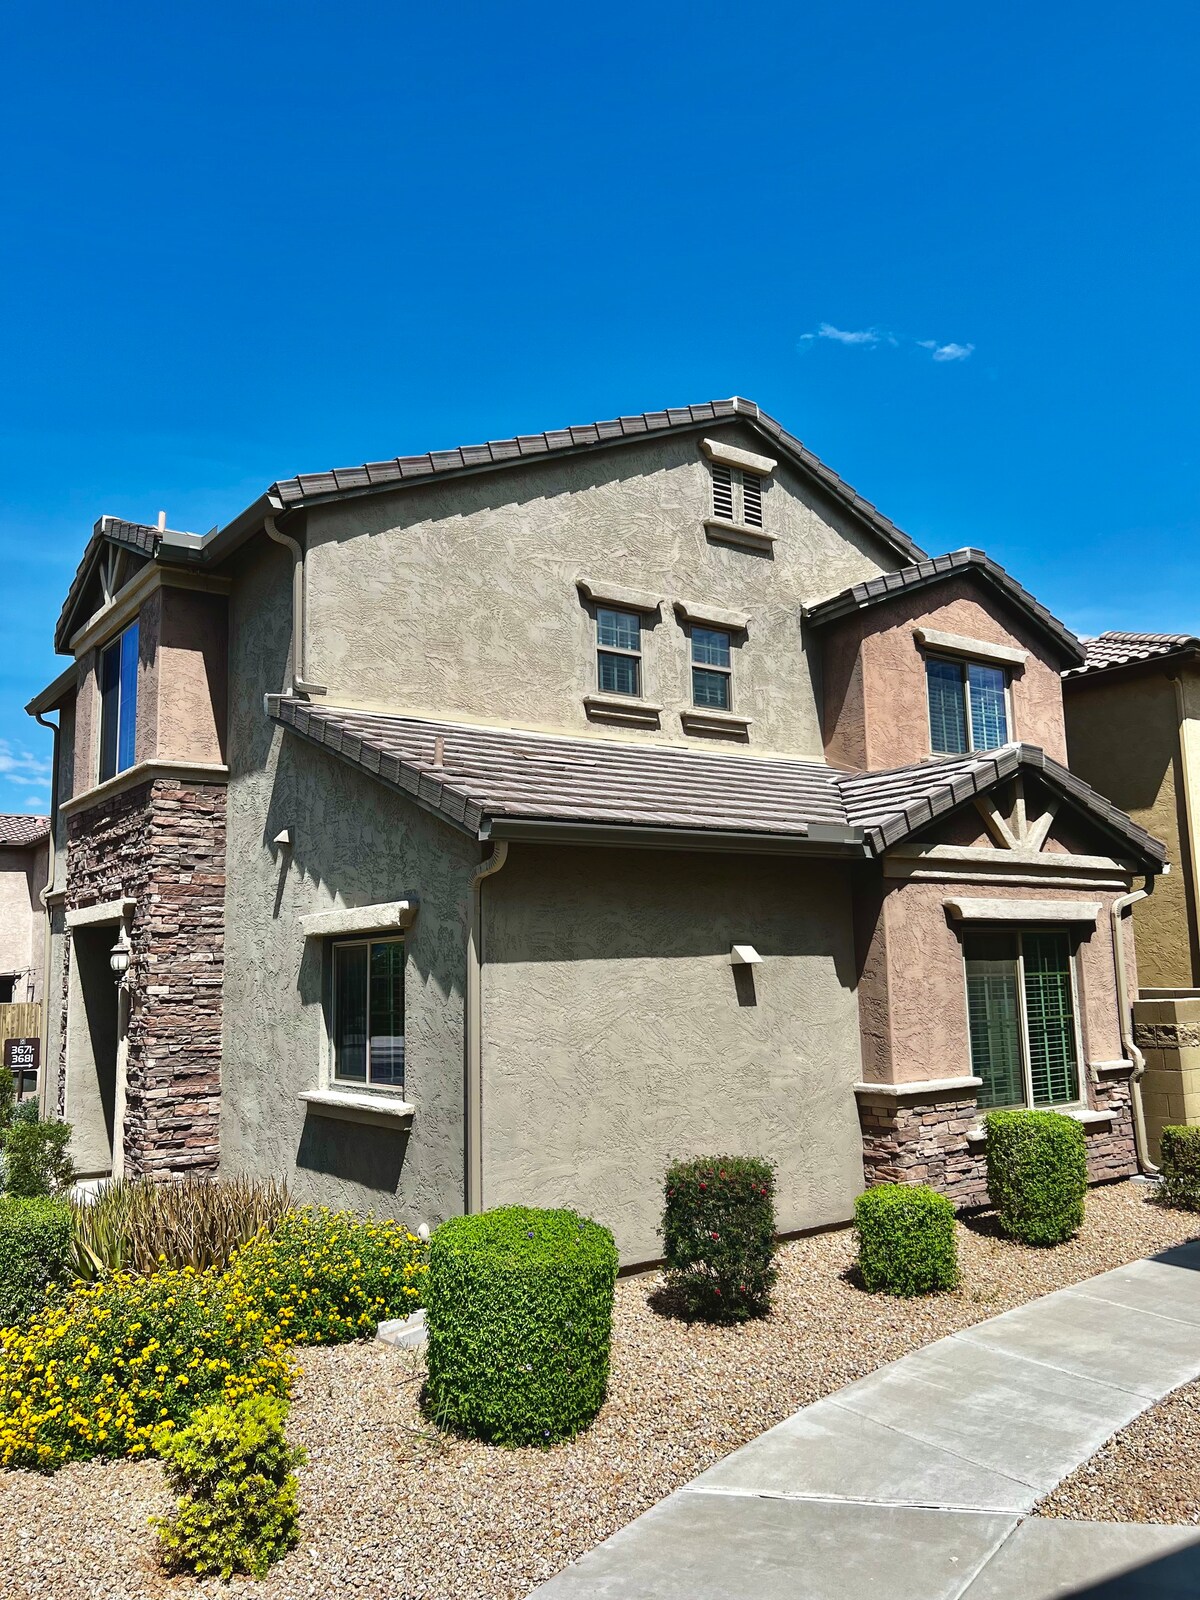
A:
<svg viewBox="0 0 1200 1600">
<path fill-rule="evenodd" d="M 66 909 L 130 896 L 125 1171 L 216 1171 L 226 789 L 155 778 L 67 824 Z M 67 968 L 62 960 L 62 1038 Z M 66 1045 L 64 1045 L 66 1050 Z M 59 1059 L 62 1114 L 66 1061 Z"/>
</svg>

